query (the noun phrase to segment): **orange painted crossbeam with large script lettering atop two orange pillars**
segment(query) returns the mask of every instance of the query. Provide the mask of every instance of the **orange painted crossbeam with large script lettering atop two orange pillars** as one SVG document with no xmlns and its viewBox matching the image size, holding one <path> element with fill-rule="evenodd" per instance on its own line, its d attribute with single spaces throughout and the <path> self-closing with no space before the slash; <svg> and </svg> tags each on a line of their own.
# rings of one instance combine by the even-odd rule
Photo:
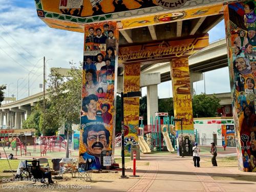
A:
<svg viewBox="0 0 256 192">
<path fill-rule="evenodd" d="M 209 45 L 209 36 L 197 36 L 187 39 L 174 39 L 150 42 L 135 46 L 120 46 L 118 60 L 122 63 L 150 62 L 171 57 L 188 57 Z"/>
</svg>

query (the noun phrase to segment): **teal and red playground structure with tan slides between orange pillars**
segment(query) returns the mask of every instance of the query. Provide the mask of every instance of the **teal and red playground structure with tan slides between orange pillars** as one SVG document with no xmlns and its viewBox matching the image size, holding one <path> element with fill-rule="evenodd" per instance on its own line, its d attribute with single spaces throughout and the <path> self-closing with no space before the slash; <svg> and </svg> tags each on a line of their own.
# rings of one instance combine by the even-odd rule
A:
<svg viewBox="0 0 256 192">
<path fill-rule="evenodd" d="M 175 152 L 173 146 L 176 146 L 176 131 L 173 119 L 174 117 L 169 117 L 168 113 L 157 113 L 154 120 L 151 117 L 151 124 L 144 127 L 141 136 L 145 134 L 151 151 Z"/>
</svg>

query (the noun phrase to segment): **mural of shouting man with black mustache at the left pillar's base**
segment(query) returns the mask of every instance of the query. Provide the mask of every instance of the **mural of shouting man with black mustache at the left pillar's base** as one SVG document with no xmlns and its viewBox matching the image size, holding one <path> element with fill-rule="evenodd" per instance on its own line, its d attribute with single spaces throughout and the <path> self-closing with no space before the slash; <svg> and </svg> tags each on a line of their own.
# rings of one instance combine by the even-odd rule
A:
<svg viewBox="0 0 256 192">
<path fill-rule="evenodd" d="M 101 169 L 100 153 L 107 150 L 110 143 L 110 132 L 103 124 L 88 125 L 82 133 L 82 141 L 87 147 L 87 152 L 81 154 L 84 160 L 91 159 L 91 169 Z"/>
</svg>

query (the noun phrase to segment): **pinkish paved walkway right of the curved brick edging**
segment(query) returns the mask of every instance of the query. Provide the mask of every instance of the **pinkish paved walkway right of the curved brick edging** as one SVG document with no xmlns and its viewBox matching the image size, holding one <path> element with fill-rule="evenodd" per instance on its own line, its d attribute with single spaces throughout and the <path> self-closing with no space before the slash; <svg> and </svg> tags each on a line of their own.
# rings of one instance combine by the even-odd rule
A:
<svg viewBox="0 0 256 192">
<path fill-rule="evenodd" d="M 147 172 L 127 191 L 253 191 L 255 182 L 214 180 L 211 176 L 256 176 L 243 173 L 238 167 L 194 167 L 191 158 L 151 157 Z M 143 173 L 143 170 L 138 170 Z"/>
</svg>

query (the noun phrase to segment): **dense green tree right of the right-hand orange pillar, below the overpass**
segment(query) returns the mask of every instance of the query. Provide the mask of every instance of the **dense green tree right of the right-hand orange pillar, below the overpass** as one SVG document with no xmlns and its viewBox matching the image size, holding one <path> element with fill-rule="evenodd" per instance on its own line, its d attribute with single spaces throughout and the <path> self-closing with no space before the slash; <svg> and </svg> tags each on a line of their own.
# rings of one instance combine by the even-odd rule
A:
<svg viewBox="0 0 256 192">
<path fill-rule="evenodd" d="M 221 108 L 220 99 L 215 95 L 206 94 L 194 95 L 193 116 L 194 117 L 214 117 L 217 109 Z"/>
</svg>

